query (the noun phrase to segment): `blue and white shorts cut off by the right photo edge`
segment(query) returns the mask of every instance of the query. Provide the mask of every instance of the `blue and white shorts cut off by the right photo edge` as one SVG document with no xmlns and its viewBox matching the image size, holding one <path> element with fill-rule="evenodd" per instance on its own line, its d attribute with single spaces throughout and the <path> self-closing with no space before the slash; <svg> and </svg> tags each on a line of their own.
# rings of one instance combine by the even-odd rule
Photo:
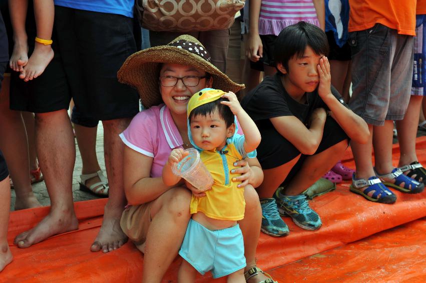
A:
<svg viewBox="0 0 426 283">
<path fill-rule="evenodd" d="M 426 15 L 415 16 L 415 37 L 414 37 L 414 64 L 412 71 L 411 95 L 426 95 L 424 86 L 426 85 Z"/>
</svg>

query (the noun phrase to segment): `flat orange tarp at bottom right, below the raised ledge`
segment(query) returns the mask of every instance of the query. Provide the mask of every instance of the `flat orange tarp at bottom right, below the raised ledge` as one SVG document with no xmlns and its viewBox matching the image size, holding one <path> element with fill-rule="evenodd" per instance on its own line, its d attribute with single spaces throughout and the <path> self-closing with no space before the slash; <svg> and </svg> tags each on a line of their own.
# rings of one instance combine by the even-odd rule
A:
<svg viewBox="0 0 426 283">
<path fill-rule="evenodd" d="M 283 282 L 426 282 L 426 218 L 269 270 Z"/>
</svg>

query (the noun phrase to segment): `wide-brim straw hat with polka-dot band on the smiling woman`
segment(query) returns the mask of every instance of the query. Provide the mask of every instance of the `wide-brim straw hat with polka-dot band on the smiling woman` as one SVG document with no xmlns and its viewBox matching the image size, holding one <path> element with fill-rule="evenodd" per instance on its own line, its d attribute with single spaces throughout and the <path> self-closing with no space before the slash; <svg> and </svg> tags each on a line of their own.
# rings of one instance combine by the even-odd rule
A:
<svg viewBox="0 0 426 283">
<path fill-rule="evenodd" d="M 163 102 L 159 87 L 161 63 L 193 66 L 213 77 L 213 88 L 237 92 L 244 84 L 233 82 L 210 62 L 210 55 L 195 37 L 184 34 L 167 45 L 155 46 L 130 55 L 118 70 L 122 83 L 136 88 L 145 108 Z"/>
</svg>

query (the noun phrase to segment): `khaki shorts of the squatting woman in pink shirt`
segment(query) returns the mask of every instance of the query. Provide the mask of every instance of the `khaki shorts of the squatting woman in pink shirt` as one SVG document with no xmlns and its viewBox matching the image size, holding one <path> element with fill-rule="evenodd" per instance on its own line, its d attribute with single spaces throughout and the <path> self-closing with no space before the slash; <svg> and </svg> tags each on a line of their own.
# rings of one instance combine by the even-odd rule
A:
<svg viewBox="0 0 426 283">
<path fill-rule="evenodd" d="M 151 224 L 151 206 L 152 201 L 127 207 L 124 209 L 120 220 L 120 226 L 123 232 L 142 252 L 144 252 L 144 250 L 142 250 L 142 244 L 145 243 L 148 227 Z"/>
</svg>

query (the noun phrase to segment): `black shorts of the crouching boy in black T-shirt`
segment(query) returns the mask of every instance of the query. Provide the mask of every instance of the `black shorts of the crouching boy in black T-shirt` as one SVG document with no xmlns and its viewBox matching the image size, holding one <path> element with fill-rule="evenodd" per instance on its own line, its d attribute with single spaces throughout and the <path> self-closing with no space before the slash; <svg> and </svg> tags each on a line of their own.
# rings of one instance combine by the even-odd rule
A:
<svg viewBox="0 0 426 283">
<path fill-rule="evenodd" d="M 275 128 L 260 129 L 260 133 L 262 140 L 257 147 L 257 158 L 263 169 L 271 169 L 288 163 L 300 154 L 296 146 L 285 139 Z M 348 139 L 347 134 L 332 117 L 327 116 L 321 142 L 313 155 L 324 151 L 344 139 Z M 287 175 L 286 181 L 291 180 L 297 171 L 300 170 L 307 156 L 309 155 L 302 154 L 300 156 Z"/>
</svg>

